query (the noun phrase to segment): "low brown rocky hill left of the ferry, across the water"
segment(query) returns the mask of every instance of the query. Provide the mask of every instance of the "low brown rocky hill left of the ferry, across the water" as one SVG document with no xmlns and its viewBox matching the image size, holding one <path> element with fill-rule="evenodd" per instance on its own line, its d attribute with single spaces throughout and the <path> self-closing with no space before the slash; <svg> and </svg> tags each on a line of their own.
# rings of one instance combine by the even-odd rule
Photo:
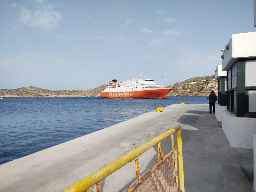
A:
<svg viewBox="0 0 256 192">
<path fill-rule="evenodd" d="M 41 89 L 37 87 L 21 87 L 17 89 L 0 89 L 0 97 L 94 97 L 103 91 L 106 85 L 100 85 L 91 90 L 62 90 L 52 91 L 48 89 Z"/>
</svg>

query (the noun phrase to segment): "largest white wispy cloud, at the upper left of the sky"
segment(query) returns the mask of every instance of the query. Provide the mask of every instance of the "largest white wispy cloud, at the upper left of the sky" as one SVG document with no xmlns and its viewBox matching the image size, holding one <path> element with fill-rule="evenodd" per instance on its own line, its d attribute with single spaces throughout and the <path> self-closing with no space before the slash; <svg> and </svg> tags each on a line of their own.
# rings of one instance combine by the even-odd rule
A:
<svg viewBox="0 0 256 192">
<path fill-rule="evenodd" d="M 32 11 L 21 7 L 19 21 L 21 24 L 32 28 L 51 29 L 59 26 L 61 15 L 56 11 Z"/>
</svg>

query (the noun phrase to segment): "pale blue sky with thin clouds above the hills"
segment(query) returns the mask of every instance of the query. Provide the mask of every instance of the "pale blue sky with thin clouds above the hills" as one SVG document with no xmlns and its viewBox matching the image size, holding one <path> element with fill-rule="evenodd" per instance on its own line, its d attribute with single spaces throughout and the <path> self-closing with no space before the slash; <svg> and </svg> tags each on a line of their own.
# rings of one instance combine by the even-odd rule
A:
<svg viewBox="0 0 256 192">
<path fill-rule="evenodd" d="M 232 34 L 256 31 L 253 0 L 0 1 L 0 88 L 164 86 L 213 75 Z"/>
</svg>

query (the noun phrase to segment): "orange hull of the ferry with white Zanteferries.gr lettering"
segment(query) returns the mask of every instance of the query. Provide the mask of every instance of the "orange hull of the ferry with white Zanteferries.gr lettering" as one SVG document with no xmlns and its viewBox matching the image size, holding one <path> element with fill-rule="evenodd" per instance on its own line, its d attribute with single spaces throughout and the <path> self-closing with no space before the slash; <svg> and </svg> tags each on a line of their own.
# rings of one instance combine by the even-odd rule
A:
<svg viewBox="0 0 256 192">
<path fill-rule="evenodd" d="M 172 88 L 166 89 L 151 89 L 142 91 L 127 91 L 127 92 L 100 92 L 100 97 L 103 98 L 159 98 L 164 99 L 165 96 L 172 91 Z"/>
</svg>

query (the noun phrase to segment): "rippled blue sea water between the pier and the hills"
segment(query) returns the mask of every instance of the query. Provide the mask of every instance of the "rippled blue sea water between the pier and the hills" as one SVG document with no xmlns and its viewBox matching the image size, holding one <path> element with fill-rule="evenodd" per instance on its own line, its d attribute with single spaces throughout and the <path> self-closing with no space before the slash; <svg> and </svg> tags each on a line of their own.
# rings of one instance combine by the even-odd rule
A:
<svg viewBox="0 0 256 192">
<path fill-rule="evenodd" d="M 206 98 L 4 98 L 0 100 L 0 164 L 123 122 L 156 107 L 180 102 L 207 104 Z"/>
</svg>

